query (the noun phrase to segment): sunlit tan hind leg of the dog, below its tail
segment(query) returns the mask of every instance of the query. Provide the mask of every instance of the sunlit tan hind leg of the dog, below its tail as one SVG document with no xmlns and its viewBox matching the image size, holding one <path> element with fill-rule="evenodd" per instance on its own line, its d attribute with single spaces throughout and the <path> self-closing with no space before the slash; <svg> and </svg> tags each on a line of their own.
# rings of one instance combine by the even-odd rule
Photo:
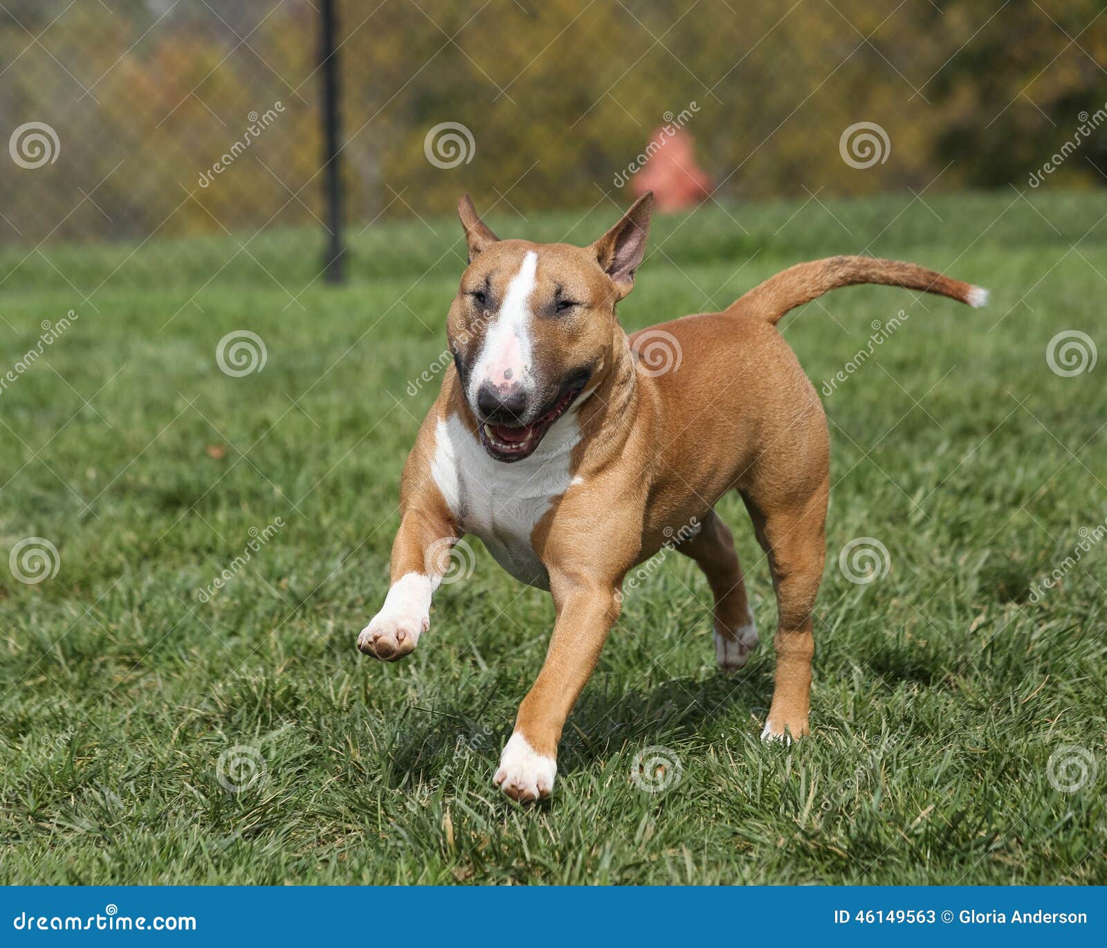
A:
<svg viewBox="0 0 1107 948">
<path fill-rule="evenodd" d="M 826 559 L 826 477 L 803 502 L 766 508 L 746 497 L 757 539 L 768 556 L 776 589 L 776 684 L 762 738 L 780 740 L 808 733 L 811 657 L 815 638 L 811 612 Z"/>
</svg>

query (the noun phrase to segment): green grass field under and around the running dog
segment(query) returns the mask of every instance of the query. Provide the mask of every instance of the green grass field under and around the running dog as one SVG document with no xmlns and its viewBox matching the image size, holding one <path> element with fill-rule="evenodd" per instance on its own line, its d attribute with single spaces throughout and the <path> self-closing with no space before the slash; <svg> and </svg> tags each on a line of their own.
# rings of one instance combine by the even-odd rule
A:
<svg viewBox="0 0 1107 948">
<path fill-rule="evenodd" d="M 617 213 L 489 223 L 584 241 Z M 444 348 L 456 221 L 370 228 L 338 289 L 311 282 L 313 233 L 3 250 L 0 373 L 77 318 L 0 391 L 0 880 L 1107 883 L 1105 367 L 1046 358 L 1063 330 L 1107 346 L 1105 215 L 1103 193 L 1012 190 L 658 221 L 628 329 L 839 253 L 993 303 L 858 288 L 783 324 L 819 388 L 908 317 L 824 393 L 813 735 L 759 742 L 772 649 L 717 674 L 706 585 L 671 555 L 627 596 L 529 808 L 490 780 L 546 594 L 473 542 L 410 659 L 354 648 L 436 388 L 412 380 Z M 236 378 L 216 347 L 238 329 L 267 361 Z M 741 501 L 718 509 L 770 629 Z M 29 537 L 58 550 L 38 583 L 9 561 Z M 839 567 L 858 537 L 887 549 L 867 584 Z M 680 771 L 663 792 L 632 780 L 652 746 Z"/>
</svg>

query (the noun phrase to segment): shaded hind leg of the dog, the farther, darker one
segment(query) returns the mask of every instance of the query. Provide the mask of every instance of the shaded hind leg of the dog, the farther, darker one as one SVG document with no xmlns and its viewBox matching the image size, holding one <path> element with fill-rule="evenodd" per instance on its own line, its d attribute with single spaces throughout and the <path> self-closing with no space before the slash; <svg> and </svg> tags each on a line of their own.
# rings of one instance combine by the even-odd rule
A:
<svg viewBox="0 0 1107 948">
<path fill-rule="evenodd" d="M 724 671 L 737 671 L 757 648 L 757 627 L 746 598 L 742 565 L 734 552 L 730 527 L 713 509 L 702 521 L 701 530 L 676 548 L 695 560 L 707 577 L 715 599 L 715 658 Z"/>
</svg>

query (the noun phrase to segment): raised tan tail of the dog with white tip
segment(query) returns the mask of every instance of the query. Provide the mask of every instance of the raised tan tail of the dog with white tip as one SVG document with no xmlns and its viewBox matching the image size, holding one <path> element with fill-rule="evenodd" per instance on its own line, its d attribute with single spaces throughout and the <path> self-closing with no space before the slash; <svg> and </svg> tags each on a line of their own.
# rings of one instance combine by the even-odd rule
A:
<svg viewBox="0 0 1107 948">
<path fill-rule="evenodd" d="M 980 307 L 987 302 L 987 290 L 928 270 L 915 264 L 881 260 L 876 257 L 827 257 L 797 264 L 769 277 L 730 306 L 730 311 L 755 311 L 769 322 L 776 322 L 788 310 L 810 302 L 825 292 L 856 284 L 883 284 L 941 293 L 951 299 Z"/>
</svg>

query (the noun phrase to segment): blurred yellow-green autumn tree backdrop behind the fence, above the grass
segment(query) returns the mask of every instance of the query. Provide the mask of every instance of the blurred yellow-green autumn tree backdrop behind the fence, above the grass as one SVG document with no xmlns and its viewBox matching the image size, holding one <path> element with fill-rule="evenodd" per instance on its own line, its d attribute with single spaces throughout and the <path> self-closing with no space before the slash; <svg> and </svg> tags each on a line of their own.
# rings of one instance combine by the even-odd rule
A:
<svg viewBox="0 0 1107 948">
<path fill-rule="evenodd" d="M 1098 7 L 3 0 L 0 243 L 287 230 L 322 267 L 340 221 L 405 219 L 399 253 L 463 192 L 625 203 L 674 125 L 710 200 L 1022 187 L 1103 115 Z M 1100 187 L 1105 148 L 1055 179 Z"/>
</svg>

